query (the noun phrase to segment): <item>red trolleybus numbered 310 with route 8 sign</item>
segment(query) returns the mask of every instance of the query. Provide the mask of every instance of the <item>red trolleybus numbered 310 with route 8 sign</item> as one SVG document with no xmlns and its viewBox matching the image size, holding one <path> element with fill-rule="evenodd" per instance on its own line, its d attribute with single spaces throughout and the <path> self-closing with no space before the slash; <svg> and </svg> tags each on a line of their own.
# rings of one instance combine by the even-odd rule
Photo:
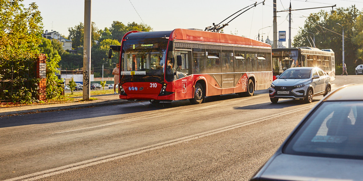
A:
<svg viewBox="0 0 363 181">
<path fill-rule="evenodd" d="M 205 96 L 252 96 L 272 83 L 271 46 L 249 38 L 190 29 L 130 31 L 121 46 L 110 48 L 120 51 L 121 99 L 200 104 Z"/>
</svg>

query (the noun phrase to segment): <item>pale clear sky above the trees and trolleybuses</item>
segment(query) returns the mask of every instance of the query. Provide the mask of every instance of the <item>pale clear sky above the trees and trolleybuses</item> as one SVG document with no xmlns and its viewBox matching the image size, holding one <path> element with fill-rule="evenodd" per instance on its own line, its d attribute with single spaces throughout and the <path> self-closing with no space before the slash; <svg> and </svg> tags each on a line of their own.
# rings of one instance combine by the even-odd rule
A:
<svg viewBox="0 0 363 181">
<path fill-rule="evenodd" d="M 258 0 L 257 3 L 263 0 Z M 291 9 L 304 9 L 337 5 L 335 8 L 351 7 L 363 10 L 363 0 L 276 0 L 277 11 Z M 68 36 L 68 28 L 74 27 L 79 22 L 84 22 L 84 1 L 82 0 L 24 0 L 23 4 L 35 2 L 43 17 L 44 31 L 54 30 Z M 241 10 L 256 1 L 253 0 L 93 0 L 91 1 L 91 21 L 95 22 L 98 29 L 110 28 L 113 21 L 123 24 L 136 22 L 144 23 L 154 31 L 168 31 L 176 28 L 205 29 L 218 24 L 233 13 Z M 296 10 L 291 14 L 291 39 L 298 33 L 299 27 L 304 26 L 306 17 L 310 13 L 320 10 L 331 11 L 332 8 Z M 244 10 L 242 10 L 244 11 Z M 237 14 L 240 14 L 240 11 Z M 236 14 L 236 15 L 237 15 Z M 225 22 L 232 20 L 233 17 Z M 277 31 L 286 31 L 287 46 L 289 34 L 288 12 L 277 13 Z M 222 23 L 222 24 L 223 24 Z M 339 22 L 344 25 L 344 22 Z M 273 40 L 273 0 L 266 0 L 265 5 L 259 4 L 241 14 L 228 26 L 224 33 L 236 34 L 252 39 L 264 40 L 268 37 Z M 271 26 L 271 27 L 268 27 Z M 337 25 L 339 26 L 339 25 Z"/>
</svg>

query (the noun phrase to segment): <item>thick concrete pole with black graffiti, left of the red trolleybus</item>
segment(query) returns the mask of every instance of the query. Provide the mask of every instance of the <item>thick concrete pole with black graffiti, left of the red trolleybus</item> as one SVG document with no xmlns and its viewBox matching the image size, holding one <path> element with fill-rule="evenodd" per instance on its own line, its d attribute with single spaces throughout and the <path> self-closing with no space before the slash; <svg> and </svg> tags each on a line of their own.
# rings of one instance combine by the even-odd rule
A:
<svg viewBox="0 0 363 181">
<path fill-rule="evenodd" d="M 91 76 L 91 0 L 85 0 L 85 26 L 83 34 L 83 100 L 89 100 Z"/>
</svg>

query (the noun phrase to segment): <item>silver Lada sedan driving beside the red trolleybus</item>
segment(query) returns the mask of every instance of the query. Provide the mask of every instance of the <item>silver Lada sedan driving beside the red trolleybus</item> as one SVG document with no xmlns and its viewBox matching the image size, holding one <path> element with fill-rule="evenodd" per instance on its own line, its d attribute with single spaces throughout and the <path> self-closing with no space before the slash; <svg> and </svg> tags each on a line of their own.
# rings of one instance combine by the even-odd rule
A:
<svg viewBox="0 0 363 181">
<path fill-rule="evenodd" d="M 331 90 L 330 76 L 316 67 L 289 68 L 276 77 L 269 88 L 272 103 L 289 98 L 310 103 L 314 96 L 325 96 Z"/>
</svg>

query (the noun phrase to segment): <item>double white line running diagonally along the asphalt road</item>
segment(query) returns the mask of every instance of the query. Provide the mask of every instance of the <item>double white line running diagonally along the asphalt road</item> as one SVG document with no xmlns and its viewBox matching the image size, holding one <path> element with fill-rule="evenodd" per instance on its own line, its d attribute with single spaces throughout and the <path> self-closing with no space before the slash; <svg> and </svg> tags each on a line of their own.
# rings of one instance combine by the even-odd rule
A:
<svg viewBox="0 0 363 181">
<path fill-rule="evenodd" d="M 266 121 L 266 120 L 269 120 L 269 119 L 272 119 L 272 118 L 275 118 L 275 117 L 280 117 L 280 116 L 283 116 L 283 115 L 291 114 L 291 113 L 294 113 L 295 111 L 310 109 L 313 106 L 315 106 L 315 104 L 312 104 L 312 105 L 307 106 L 305 108 L 293 109 L 293 110 L 285 111 L 285 112 L 282 112 L 282 113 L 269 115 L 269 116 L 266 116 L 266 117 L 263 117 L 263 118 L 253 119 L 251 121 L 246 121 L 246 122 L 243 122 L 243 123 L 238 123 L 238 124 L 235 124 L 235 125 L 222 127 L 222 128 L 211 130 L 211 131 L 206 131 L 206 132 L 202 132 L 202 133 L 191 135 L 191 136 L 185 136 L 183 138 L 178 138 L 178 139 L 169 140 L 169 141 L 162 142 L 162 143 L 152 144 L 152 145 L 146 146 L 146 147 L 136 148 L 136 149 L 125 151 L 125 152 L 115 153 L 115 154 L 112 154 L 112 155 L 98 157 L 98 158 L 90 159 L 90 160 L 85 160 L 85 161 L 81 161 L 81 162 L 78 162 L 78 163 L 65 165 L 65 166 L 62 166 L 62 167 L 57 167 L 57 168 L 48 169 L 48 170 L 41 171 L 41 172 L 31 173 L 31 174 L 27 174 L 27 175 L 20 176 L 20 177 L 10 178 L 10 179 L 5 180 L 5 181 L 16 181 L 16 180 L 22 180 L 22 179 L 25 179 L 24 181 L 38 180 L 40 178 L 45 178 L 45 177 L 49 177 L 49 176 L 53 176 L 53 175 L 57 175 L 57 174 L 65 173 L 65 172 L 70 172 L 70 171 L 74 171 L 74 170 L 77 170 L 77 169 L 89 167 L 89 166 L 92 166 L 92 165 L 97 165 L 97 164 L 101 164 L 101 163 L 105 163 L 105 162 L 108 162 L 108 161 L 121 159 L 121 158 L 132 156 L 132 155 L 137 155 L 137 154 L 144 153 L 144 152 L 147 152 L 147 151 L 152 151 L 152 150 L 172 146 L 172 145 L 179 144 L 179 143 L 185 143 L 185 142 L 188 142 L 188 141 L 191 141 L 191 140 L 195 140 L 195 139 L 198 139 L 198 138 L 203 138 L 205 136 L 214 135 L 214 134 L 218 134 L 218 133 L 233 130 L 233 129 L 237 129 L 237 128 L 240 128 L 240 127 L 243 127 L 243 126 L 252 125 L 254 123 L 259 123 L 259 122 Z"/>
</svg>

